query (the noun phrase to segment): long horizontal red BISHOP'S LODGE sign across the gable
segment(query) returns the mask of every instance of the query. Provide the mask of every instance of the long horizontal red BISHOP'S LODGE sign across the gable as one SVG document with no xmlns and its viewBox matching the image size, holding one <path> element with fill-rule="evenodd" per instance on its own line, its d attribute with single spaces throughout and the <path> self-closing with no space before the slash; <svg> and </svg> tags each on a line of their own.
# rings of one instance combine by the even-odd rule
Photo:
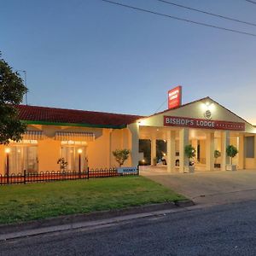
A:
<svg viewBox="0 0 256 256">
<path fill-rule="evenodd" d="M 245 123 L 164 116 L 164 125 L 201 129 L 245 131 Z"/>
</svg>

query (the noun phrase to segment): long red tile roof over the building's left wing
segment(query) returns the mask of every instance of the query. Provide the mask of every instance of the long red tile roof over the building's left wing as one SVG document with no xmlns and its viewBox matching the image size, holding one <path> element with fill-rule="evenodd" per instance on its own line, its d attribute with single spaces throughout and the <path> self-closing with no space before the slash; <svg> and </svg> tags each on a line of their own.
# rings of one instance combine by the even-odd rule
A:
<svg viewBox="0 0 256 256">
<path fill-rule="evenodd" d="M 21 120 L 40 123 L 78 124 L 89 126 L 101 126 L 109 128 L 122 128 L 134 123 L 143 116 L 84 111 L 64 108 L 46 108 L 38 106 L 19 105 L 19 117 Z"/>
</svg>

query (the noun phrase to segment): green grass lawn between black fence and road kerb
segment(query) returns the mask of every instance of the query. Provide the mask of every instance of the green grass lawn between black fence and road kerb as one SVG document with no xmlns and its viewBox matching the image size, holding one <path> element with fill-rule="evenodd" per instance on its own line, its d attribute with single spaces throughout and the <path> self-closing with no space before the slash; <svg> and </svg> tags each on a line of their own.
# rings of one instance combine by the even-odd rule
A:
<svg viewBox="0 0 256 256">
<path fill-rule="evenodd" d="M 0 224 L 182 200 L 146 177 L 108 177 L 0 187 Z"/>
</svg>

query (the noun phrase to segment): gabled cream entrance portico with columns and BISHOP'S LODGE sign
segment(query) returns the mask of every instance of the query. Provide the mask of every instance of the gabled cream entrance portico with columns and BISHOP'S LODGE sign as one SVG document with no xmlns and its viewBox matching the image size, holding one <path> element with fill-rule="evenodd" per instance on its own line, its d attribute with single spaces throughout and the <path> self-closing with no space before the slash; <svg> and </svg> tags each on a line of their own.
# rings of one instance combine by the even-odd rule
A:
<svg viewBox="0 0 256 256">
<path fill-rule="evenodd" d="M 230 164 L 228 145 L 238 148 L 239 153 L 232 161 L 238 169 L 256 166 L 255 127 L 209 97 L 140 119 L 138 130 L 140 139 L 151 142 L 151 165 L 161 160 L 157 142 L 166 143 L 166 152 L 162 154 L 167 172 L 184 172 L 189 168 L 189 158 L 184 154 L 189 144 L 195 148 L 195 170 L 225 171 Z M 247 147 L 247 137 L 252 137 L 253 148 Z M 221 154 L 216 159 L 215 150 Z M 247 151 L 253 154 L 249 158 Z"/>
</svg>

